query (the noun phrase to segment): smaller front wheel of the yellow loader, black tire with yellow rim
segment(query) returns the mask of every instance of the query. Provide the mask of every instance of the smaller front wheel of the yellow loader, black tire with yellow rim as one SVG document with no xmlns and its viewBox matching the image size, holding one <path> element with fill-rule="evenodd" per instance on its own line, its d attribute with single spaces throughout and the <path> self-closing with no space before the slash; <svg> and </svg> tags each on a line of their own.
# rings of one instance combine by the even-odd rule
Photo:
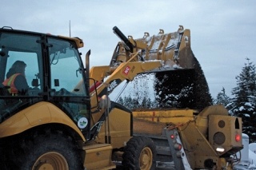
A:
<svg viewBox="0 0 256 170">
<path fill-rule="evenodd" d="M 145 136 L 134 136 L 126 144 L 122 155 L 125 169 L 154 170 L 156 167 L 156 148 L 153 140 Z"/>
</svg>

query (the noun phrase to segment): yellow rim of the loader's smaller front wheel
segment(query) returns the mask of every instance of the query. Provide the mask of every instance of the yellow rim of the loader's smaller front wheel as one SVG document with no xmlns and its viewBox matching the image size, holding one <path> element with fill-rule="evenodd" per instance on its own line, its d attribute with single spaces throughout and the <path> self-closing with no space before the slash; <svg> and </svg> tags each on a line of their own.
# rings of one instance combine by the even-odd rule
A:
<svg viewBox="0 0 256 170">
<path fill-rule="evenodd" d="M 149 147 L 143 148 L 139 156 L 139 167 L 141 170 L 150 169 L 152 166 L 153 153 Z"/>
</svg>

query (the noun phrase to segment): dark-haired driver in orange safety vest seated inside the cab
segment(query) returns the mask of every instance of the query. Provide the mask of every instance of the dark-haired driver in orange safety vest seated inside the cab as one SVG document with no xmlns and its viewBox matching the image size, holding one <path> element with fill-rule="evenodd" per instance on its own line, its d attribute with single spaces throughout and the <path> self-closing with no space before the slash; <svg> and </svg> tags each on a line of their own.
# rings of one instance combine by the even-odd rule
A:
<svg viewBox="0 0 256 170">
<path fill-rule="evenodd" d="M 24 61 L 15 61 L 6 73 L 6 80 L 2 85 L 8 87 L 11 95 L 25 95 L 29 86 L 25 76 L 26 63 Z"/>
</svg>

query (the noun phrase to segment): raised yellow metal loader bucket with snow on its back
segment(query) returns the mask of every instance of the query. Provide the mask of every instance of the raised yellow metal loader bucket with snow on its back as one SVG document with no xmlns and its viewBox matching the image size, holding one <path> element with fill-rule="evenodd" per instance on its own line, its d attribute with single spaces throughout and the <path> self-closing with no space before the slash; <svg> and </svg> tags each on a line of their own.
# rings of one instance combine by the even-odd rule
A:
<svg viewBox="0 0 256 170">
<path fill-rule="evenodd" d="M 166 69 L 194 69 L 194 57 L 190 48 L 190 30 L 180 26 L 178 31 L 165 34 L 160 30 L 158 35 L 145 33 L 143 38 L 135 40 L 137 44 L 145 43 L 142 49 L 145 61 L 161 60 Z"/>
</svg>

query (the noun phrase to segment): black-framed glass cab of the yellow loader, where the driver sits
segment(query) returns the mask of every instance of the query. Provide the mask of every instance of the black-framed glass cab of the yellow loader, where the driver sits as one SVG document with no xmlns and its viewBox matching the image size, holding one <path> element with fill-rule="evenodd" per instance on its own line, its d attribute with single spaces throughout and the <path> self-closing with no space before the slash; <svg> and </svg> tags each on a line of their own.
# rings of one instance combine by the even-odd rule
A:
<svg viewBox="0 0 256 170">
<path fill-rule="evenodd" d="M 78 38 L 0 29 L 0 123 L 46 101 L 90 136 L 90 96 L 77 42 Z M 16 61 L 26 64 L 25 73 L 10 77 Z M 26 79 L 22 89 L 18 78 Z"/>
</svg>

